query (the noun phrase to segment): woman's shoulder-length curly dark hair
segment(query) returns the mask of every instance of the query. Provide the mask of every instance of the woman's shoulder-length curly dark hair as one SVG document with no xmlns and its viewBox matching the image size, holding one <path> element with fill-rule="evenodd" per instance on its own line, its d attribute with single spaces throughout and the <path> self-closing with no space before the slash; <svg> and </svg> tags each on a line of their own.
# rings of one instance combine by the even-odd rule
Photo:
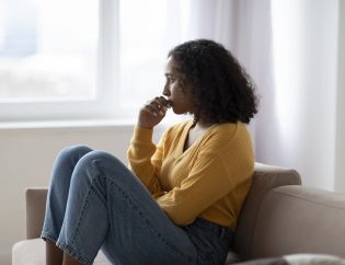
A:
<svg viewBox="0 0 345 265">
<path fill-rule="evenodd" d="M 257 113 L 252 79 L 221 44 L 191 41 L 174 47 L 170 56 L 182 81 L 192 84 L 195 117 L 209 124 L 248 124 Z"/>
</svg>

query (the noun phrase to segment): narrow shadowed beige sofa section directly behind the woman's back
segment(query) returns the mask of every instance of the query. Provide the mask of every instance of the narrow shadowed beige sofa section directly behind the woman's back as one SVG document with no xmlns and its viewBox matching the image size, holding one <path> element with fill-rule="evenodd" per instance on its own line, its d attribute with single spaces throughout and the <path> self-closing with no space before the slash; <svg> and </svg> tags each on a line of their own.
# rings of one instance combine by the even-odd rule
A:
<svg viewBox="0 0 345 265">
<path fill-rule="evenodd" d="M 233 242 L 234 252 L 242 258 L 253 256 L 253 238 L 265 195 L 277 186 L 300 184 L 300 175 L 295 170 L 255 163 L 252 186 L 238 220 Z"/>
</svg>

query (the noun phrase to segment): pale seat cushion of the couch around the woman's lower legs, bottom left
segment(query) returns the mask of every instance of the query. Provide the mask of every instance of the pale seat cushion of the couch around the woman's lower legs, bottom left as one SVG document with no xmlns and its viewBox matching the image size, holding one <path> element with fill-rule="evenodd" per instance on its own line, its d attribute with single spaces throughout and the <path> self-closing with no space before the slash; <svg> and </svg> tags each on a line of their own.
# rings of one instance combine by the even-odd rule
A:
<svg viewBox="0 0 345 265">
<path fill-rule="evenodd" d="M 45 265 L 45 242 L 42 239 L 23 240 L 12 247 L 12 265 Z M 111 265 L 102 251 L 94 260 L 94 265 Z"/>
</svg>

